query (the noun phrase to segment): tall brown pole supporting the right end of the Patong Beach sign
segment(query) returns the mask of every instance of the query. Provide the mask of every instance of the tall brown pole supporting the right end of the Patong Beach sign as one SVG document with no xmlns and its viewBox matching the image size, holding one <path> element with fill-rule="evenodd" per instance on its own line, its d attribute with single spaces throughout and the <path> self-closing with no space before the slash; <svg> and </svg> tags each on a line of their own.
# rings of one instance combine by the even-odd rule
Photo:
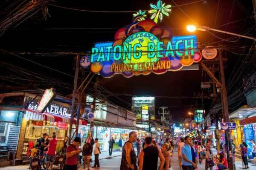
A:
<svg viewBox="0 0 256 170">
<path fill-rule="evenodd" d="M 219 55 L 219 62 L 220 62 L 220 75 L 221 75 L 221 99 L 222 99 L 222 112 L 224 117 L 224 122 L 229 122 L 229 112 L 228 112 L 228 102 L 227 102 L 227 89 L 226 89 L 226 83 L 225 83 L 225 74 L 224 74 L 224 66 L 222 61 L 222 46 L 220 46 L 220 49 L 218 50 Z M 235 170 L 236 167 L 233 162 L 232 157 L 232 144 L 231 144 L 231 135 L 230 130 L 225 130 L 225 141 L 227 146 L 227 159 L 229 160 L 229 169 Z M 231 156 L 230 156 L 231 155 Z"/>
</svg>

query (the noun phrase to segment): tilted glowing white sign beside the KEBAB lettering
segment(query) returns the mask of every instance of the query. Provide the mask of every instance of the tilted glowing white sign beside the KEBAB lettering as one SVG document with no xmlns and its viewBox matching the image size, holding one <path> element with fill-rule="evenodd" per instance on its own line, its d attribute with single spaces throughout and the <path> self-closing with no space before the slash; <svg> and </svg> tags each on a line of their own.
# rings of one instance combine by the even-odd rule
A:
<svg viewBox="0 0 256 170">
<path fill-rule="evenodd" d="M 41 113 L 44 112 L 48 105 L 51 103 L 51 101 L 54 99 L 54 97 L 54 89 L 46 89 L 36 110 Z"/>
</svg>

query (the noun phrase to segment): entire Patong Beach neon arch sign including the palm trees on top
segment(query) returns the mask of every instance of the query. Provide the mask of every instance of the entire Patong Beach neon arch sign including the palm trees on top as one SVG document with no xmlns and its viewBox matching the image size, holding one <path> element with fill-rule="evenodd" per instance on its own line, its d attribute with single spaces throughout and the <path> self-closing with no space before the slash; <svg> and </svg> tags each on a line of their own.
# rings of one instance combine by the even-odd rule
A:
<svg viewBox="0 0 256 170">
<path fill-rule="evenodd" d="M 87 58 L 90 64 L 84 64 L 85 67 L 90 66 L 93 73 L 105 78 L 115 74 L 131 78 L 152 72 L 159 75 L 178 71 L 200 62 L 202 55 L 195 35 L 174 37 L 172 29 L 157 25 L 163 15 L 169 16 L 171 5 L 158 0 L 150 6 L 150 19 L 139 10 L 131 24 L 116 31 L 114 41 L 96 43 Z"/>
</svg>

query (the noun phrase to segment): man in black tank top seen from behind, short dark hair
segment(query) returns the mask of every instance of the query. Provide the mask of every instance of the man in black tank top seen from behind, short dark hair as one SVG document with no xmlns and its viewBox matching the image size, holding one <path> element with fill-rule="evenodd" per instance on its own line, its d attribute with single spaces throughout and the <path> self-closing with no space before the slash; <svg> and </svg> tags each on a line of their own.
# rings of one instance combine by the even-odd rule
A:
<svg viewBox="0 0 256 170">
<path fill-rule="evenodd" d="M 139 170 L 157 170 L 158 157 L 161 160 L 159 170 L 163 170 L 165 159 L 163 154 L 158 151 L 158 148 L 152 145 L 152 138 L 145 138 L 145 146 L 141 151 L 139 160 Z"/>
</svg>

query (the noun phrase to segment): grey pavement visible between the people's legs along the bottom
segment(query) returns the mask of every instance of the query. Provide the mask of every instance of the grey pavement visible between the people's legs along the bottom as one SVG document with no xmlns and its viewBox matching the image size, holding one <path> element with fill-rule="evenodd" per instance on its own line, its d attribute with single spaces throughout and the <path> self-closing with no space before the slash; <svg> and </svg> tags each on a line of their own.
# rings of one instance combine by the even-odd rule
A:
<svg viewBox="0 0 256 170">
<path fill-rule="evenodd" d="M 216 153 L 216 151 L 214 150 L 213 152 L 214 154 Z M 100 168 L 99 169 L 95 169 L 95 170 L 120 170 L 120 162 L 121 162 L 121 152 L 120 151 L 113 151 L 112 156 L 110 157 L 108 155 L 108 152 L 103 152 L 102 154 L 100 154 L 99 156 L 100 159 Z M 93 157 L 94 160 L 94 157 Z M 178 166 L 178 159 L 177 159 L 177 152 L 174 152 L 173 157 L 171 158 L 171 162 L 172 162 L 172 170 L 179 170 L 179 166 Z M 90 167 L 92 167 L 94 164 L 94 162 L 92 162 L 90 165 Z M 236 158 L 235 161 L 236 164 L 236 170 L 242 170 L 242 161 L 240 158 Z M 256 167 L 251 166 L 252 163 L 249 163 L 249 169 L 247 170 L 256 170 Z M 27 170 L 29 166 L 28 165 L 21 165 L 21 166 L 8 166 L 8 167 L 0 167 L 0 170 Z M 79 170 L 83 170 L 82 169 L 83 164 L 81 164 L 81 167 L 79 168 Z M 58 169 L 58 167 L 56 167 L 56 170 Z M 94 168 L 90 168 L 91 170 L 94 170 Z M 213 168 L 214 170 L 215 168 Z M 198 164 L 198 168 L 197 170 L 205 170 L 205 163 L 204 161 L 202 162 L 202 164 Z"/>
</svg>

